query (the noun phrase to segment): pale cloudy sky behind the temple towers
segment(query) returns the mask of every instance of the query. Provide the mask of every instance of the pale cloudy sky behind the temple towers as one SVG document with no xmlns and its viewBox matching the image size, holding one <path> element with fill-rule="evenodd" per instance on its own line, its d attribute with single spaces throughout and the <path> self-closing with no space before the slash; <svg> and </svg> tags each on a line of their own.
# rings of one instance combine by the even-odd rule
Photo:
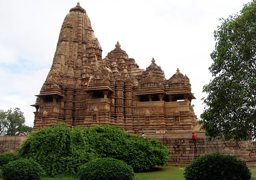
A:
<svg viewBox="0 0 256 180">
<path fill-rule="evenodd" d="M 117 41 L 142 69 L 152 57 L 169 79 L 179 68 L 190 78 L 198 118 L 202 88 L 219 18 L 239 12 L 249 0 L 80 0 L 103 54 Z M 52 65 L 62 22 L 77 0 L 0 0 L 0 109 L 20 108 L 33 126 L 34 104 Z"/>
</svg>

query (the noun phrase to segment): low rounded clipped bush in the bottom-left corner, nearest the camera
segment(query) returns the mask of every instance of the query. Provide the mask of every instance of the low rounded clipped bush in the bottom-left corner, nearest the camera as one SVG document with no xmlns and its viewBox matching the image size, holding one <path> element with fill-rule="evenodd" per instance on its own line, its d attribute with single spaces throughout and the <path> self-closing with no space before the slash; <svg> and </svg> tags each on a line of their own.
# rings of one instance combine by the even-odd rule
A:
<svg viewBox="0 0 256 180">
<path fill-rule="evenodd" d="M 40 180 L 43 170 L 32 159 L 11 161 L 2 168 L 4 180 Z"/>
</svg>

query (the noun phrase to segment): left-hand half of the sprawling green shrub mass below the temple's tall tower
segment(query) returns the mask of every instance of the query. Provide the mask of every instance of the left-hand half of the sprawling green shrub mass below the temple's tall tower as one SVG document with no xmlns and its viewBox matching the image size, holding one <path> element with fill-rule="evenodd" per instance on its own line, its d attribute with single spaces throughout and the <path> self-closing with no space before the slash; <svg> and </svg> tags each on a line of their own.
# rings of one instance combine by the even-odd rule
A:
<svg viewBox="0 0 256 180">
<path fill-rule="evenodd" d="M 85 129 L 67 128 L 64 123 L 38 129 L 18 153 L 36 160 L 49 176 L 75 174 L 79 166 L 94 157 L 84 138 Z"/>
</svg>

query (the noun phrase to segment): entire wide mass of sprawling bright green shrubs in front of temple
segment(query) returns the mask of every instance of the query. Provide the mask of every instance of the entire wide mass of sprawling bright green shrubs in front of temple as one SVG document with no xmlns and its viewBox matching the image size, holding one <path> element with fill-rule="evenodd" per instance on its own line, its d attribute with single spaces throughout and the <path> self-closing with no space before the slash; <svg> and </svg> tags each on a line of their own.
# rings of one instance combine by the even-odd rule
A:
<svg viewBox="0 0 256 180">
<path fill-rule="evenodd" d="M 124 133 L 117 126 L 67 128 L 57 124 L 38 129 L 18 151 L 23 158 L 33 158 L 48 176 L 75 174 L 78 167 L 94 158 L 114 158 L 131 165 L 134 171 L 164 166 L 168 150 L 162 142 Z"/>
</svg>

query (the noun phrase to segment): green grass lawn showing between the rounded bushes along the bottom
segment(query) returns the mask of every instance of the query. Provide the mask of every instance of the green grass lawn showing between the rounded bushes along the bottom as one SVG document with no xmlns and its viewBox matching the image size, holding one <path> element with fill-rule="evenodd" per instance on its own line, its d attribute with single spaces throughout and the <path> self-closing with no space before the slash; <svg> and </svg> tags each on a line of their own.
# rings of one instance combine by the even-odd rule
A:
<svg viewBox="0 0 256 180">
<path fill-rule="evenodd" d="M 155 167 L 150 172 L 135 173 L 135 180 L 185 180 L 183 173 L 184 166 Z M 256 179 L 256 167 L 249 166 L 252 178 Z M 0 180 L 2 180 L 0 178 Z M 55 178 L 44 177 L 41 180 L 77 180 L 75 176 L 59 176 Z"/>
</svg>

